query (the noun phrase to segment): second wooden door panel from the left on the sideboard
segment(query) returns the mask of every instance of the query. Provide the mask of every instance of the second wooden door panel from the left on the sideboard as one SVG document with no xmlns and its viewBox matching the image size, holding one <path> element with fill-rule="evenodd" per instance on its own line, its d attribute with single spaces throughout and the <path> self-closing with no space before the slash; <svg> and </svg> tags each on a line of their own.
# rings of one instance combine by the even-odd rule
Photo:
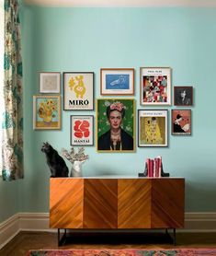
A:
<svg viewBox="0 0 216 256">
<path fill-rule="evenodd" d="M 117 228 L 118 180 L 86 179 L 84 228 Z"/>
</svg>

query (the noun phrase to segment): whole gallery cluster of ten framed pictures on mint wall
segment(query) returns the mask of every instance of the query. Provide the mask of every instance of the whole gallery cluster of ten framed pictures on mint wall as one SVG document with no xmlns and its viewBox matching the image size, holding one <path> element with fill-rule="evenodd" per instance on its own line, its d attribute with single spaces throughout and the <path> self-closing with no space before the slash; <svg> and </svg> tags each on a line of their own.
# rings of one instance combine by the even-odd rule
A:
<svg viewBox="0 0 216 256">
<path fill-rule="evenodd" d="M 168 110 L 164 108 L 171 106 L 171 91 L 176 106 L 171 110 L 171 134 L 191 135 L 191 110 L 184 107 L 193 106 L 193 87 L 172 90 L 171 71 L 170 67 L 140 68 L 143 109 L 137 110 L 137 122 L 136 102 L 131 98 L 134 68 L 101 68 L 102 98 L 96 100 L 94 72 L 63 72 L 63 111 L 94 111 L 97 104 L 96 131 L 93 115 L 71 115 L 70 144 L 95 145 L 96 133 L 97 152 L 134 152 L 137 123 L 139 147 L 168 146 Z M 33 96 L 33 129 L 62 128 L 61 91 L 61 72 L 40 72 L 40 95 Z"/>
</svg>

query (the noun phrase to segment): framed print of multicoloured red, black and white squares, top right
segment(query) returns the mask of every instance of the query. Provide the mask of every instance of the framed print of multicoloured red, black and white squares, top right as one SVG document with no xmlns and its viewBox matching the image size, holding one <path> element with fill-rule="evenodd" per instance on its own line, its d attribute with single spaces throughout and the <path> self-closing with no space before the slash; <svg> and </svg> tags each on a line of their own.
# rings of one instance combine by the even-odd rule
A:
<svg viewBox="0 0 216 256">
<path fill-rule="evenodd" d="M 141 67 L 141 105 L 171 104 L 171 68 Z"/>
</svg>

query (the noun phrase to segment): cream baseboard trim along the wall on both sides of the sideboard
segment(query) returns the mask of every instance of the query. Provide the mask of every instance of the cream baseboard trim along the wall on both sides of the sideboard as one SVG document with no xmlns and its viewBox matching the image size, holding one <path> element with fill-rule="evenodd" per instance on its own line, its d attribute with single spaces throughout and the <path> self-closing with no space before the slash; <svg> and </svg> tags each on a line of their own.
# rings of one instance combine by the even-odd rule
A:
<svg viewBox="0 0 216 256">
<path fill-rule="evenodd" d="M 50 228 L 49 213 L 18 213 L 0 223 L 0 249 L 20 231 L 56 232 Z M 186 213 L 185 228 L 177 232 L 216 232 L 216 213 Z"/>
</svg>

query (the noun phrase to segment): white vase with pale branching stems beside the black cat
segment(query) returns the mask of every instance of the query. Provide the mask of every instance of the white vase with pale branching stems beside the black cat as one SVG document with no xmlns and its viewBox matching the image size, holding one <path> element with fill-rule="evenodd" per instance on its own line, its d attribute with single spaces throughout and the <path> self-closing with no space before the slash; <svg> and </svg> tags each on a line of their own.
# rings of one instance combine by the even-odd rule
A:
<svg viewBox="0 0 216 256">
<path fill-rule="evenodd" d="M 88 155 L 85 155 L 85 148 L 80 147 L 78 152 L 75 153 L 74 147 L 71 148 L 71 152 L 68 152 L 65 148 L 62 149 L 62 155 L 72 163 L 71 177 L 82 176 L 82 164 L 88 159 Z"/>
</svg>

